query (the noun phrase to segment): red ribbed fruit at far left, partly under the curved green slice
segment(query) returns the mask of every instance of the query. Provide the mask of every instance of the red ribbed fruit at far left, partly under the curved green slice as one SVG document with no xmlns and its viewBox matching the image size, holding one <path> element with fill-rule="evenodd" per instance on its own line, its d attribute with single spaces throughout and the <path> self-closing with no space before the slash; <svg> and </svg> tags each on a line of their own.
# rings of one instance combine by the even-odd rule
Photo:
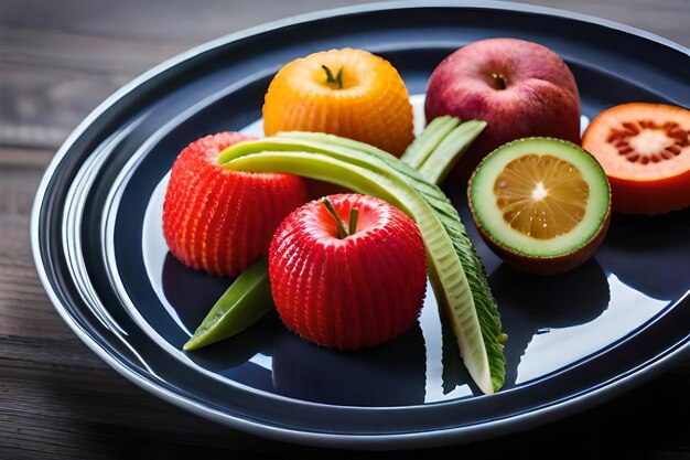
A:
<svg viewBox="0 0 690 460">
<path fill-rule="evenodd" d="M 220 132 L 187 146 L 172 167 L 163 202 L 163 235 L 182 264 L 237 276 L 268 253 L 280 222 L 306 201 L 301 178 L 226 170 L 218 154 L 254 139 Z"/>
</svg>

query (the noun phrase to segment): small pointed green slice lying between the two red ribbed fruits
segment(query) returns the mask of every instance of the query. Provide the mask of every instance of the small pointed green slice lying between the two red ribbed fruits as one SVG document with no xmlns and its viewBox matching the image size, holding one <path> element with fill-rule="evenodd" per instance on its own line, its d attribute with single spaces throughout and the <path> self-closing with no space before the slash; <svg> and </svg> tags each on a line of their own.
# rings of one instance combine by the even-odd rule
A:
<svg viewBox="0 0 690 460">
<path fill-rule="evenodd" d="M 183 349 L 201 349 L 235 335 L 274 308 L 268 279 L 268 260 L 261 257 L 220 296 Z"/>
</svg>

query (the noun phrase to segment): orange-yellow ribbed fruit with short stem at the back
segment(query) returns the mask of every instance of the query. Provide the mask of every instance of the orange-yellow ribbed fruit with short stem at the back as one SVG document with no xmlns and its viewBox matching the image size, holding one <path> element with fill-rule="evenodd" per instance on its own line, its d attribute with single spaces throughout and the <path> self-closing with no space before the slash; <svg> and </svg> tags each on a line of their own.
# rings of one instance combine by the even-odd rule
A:
<svg viewBox="0 0 690 460">
<path fill-rule="evenodd" d="M 398 71 L 364 50 L 294 60 L 271 81 L 263 130 L 328 132 L 400 157 L 412 142 L 412 106 Z"/>
</svg>

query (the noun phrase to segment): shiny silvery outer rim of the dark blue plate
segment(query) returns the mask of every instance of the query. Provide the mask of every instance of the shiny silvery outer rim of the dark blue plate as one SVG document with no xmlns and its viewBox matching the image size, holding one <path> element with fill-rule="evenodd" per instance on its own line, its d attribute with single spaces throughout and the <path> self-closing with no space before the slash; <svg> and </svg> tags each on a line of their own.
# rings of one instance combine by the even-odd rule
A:
<svg viewBox="0 0 690 460">
<path fill-rule="evenodd" d="M 55 172 L 62 161 L 67 157 L 72 147 L 79 140 L 79 138 L 97 121 L 101 115 L 104 115 L 111 106 L 116 105 L 123 97 L 130 94 L 136 88 L 145 84 L 147 82 L 155 78 L 160 74 L 192 60 L 200 54 L 212 51 L 216 47 L 226 45 L 228 43 L 239 41 L 245 38 L 249 38 L 256 34 L 279 30 L 290 25 L 303 24 L 321 19 L 347 15 L 352 13 L 366 13 L 375 11 L 386 11 L 395 9 L 409 9 L 409 8 L 450 8 L 450 9 L 463 9 L 463 8 L 477 8 L 486 10 L 503 10 L 514 12 L 527 12 L 545 15 L 554 15 L 562 19 L 570 19 L 575 21 L 582 21 L 592 23 L 594 25 L 601 25 L 607 29 L 626 32 L 633 35 L 640 36 L 661 45 L 680 51 L 683 54 L 690 56 L 690 50 L 683 45 L 672 42 L 668 39 L 658 36 L 656 34 L 625 25 L 615 21 L 610 21 L 587 14 L 575 13 L 567 10 L 539 7 L 532 4 L 521 4 L 515 2 L 503 1 L 391 1 L 369 3 L 364 6 L 351 6 L 336 9 L 327 9 L 316 12 L 310 12 L 290 18 L 281 19 L 278 21 L 268 22 L 249 29 L 245 29 L 238 32 L 234 32 L 208 42 L 205 42 L 198 46 L 192 47 L 185 52 L 182 52 L 169 60 L 165 60 L 161 64 L 155 65 L 149 71 L 142 73 L 138 77 L 130 81 L 128 84 L 116 90 L 111 96 L 106 98 L 99 104 L 67 137 L 65 142 L 56 151 L 51 163 L 46 168 L 41 182 L 39 184 L 32 211 L 31 211 L 31 247 L 33 253 L 34 265 L 39 279 L 46 291 L 51 303 L 62 317 L 63 321 L 72 329 L 72 331 L 84 342 L 88 349 L 96 353 L 101 360 L 104 360 L 110 367 L 112 367 L 120 375 L 145 389 L 150 394 L 160 397 L 177 407 L 181 407 L 192 414 L 202 416 L 213 421 L 230 426 L 250 432 L 254 435 L 266 436 L 269 438 L 301 442 L 312 446 L 322 447 L 348 447 L 348 448 L 365 448 L 365 449 L 389 449 L 389 448 L 413 448 L 420 446 L 439 446 L 442 443 L 455 443 L 467 440 L 479 440 L 488 437 L 505 434 L 508 430 L 515 431 L 514 427 L 518 426 L 519 430 L 525 430 L 536 426 L 538 422 L 554 420 L 562 418 L 574 413 L 582 411 L 589 407 L 594 406 L 602 399 L 607 399 L 617 394 L 632 388 L 634 385 L 638 385 L 659 373 L 668 370 L 672 364 L 682 359 L 687 359 L 690 355 L 690 341 L 687 339 L 679 341 L 671 347 L 667 347 L 662 351 L 655 351 L 654 359 L 649 359 L 639 365 L 629 368 L 627 373 L 618 375 L 607 382 L 602 382 L 597 387 L 591 388 L 586 393 L 580 395 L 573 395 L 564 400 L 554 402 L 546 407 L 536 408 L 528 413 L 511 415 L 509 417 L 499 418 L 495 420 L 484 421 L 482 424 L 474 424 L 470 426 L 452 427 L 446 429 L 436 429 L 432 431 L 416 431 L 405 434 L 388 434 L 388 435 L 347 435 L 347 434 L 328 434 L 328 432 L 315 432 L 315 431 L 300 431 L 293 428 L 284 428 L 273 425 L 267 425 L 260 421 L 251 421 L 249 419 L 236 417 L 234 415 L 224 413 L 222 410 L 214 409 L 208 406 L 204 406 L 200 403 L 192 400 L 179 393 L 169 391 L 162 386 L 155 385 L 153 382 L 144 378 L 138 373 L 132 372 L 131 368 L 122 364 L 120 361 L 111 356 L 101 345 L 94 340 L 85 329 L 83 329 L 75 318 L 68 312 L 67 308 L 62 303 L 57 296 L 57 290 L 53 288 L 51 279 L 48 277 L 45 260 L 42 257 L 42 239 L 40 238 L 40 221 L 42 214 L 42 207 L 45 204 L 45 199 L 48 186 L 54 179 Z M 687 302 L 690 296 L 686 296 L 678 299 L 677 303 Z M 513 428 L 513 429 L 510 429 Z M 420 442 L 421 441 L 421 442 Z"/>
</svg>

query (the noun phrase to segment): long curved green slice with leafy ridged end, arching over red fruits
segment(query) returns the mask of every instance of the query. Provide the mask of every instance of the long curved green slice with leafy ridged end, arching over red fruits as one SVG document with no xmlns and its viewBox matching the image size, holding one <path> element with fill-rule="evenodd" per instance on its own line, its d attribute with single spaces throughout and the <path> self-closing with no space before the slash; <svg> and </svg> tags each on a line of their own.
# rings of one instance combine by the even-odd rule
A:
<svg viewBox="0 0 690 460">
<path fill-rule="evenodd" d="M 505 356 L 496 302 L 484 267 L 448 197 L 386 152 L 331 135 L 303 135 L 304 139 L 292 133 L 242 142 L 224 150 L 218 161 L 241 171 L 324 180 L 386 200 L 410 215 L 424 238 L 432 287 L 440 307 L 449 312 L 465 367 L 484 393 L 500 388 Z M 316 141 L 314 136 L 328 141 Z"/>
</svg>

